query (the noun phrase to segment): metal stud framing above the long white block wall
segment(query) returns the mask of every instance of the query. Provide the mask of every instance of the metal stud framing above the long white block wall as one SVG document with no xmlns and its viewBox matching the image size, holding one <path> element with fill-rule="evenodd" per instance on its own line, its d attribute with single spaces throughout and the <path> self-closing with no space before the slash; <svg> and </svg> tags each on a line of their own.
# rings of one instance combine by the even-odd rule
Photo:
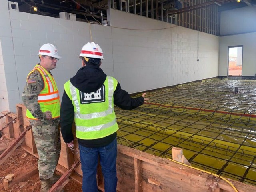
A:
<svg viewBox="0 0 256 192">
<path fill-rule="evenodd" d="M 116 1 L 116 0 L 115 0 Z M 160 0 L 118 0 L 122 6 L 126 2 L 126 8 L 120 6 L 120 10 L 139 14 L 141 16 L 150 17 L 156 20 L 170 22 L 186 28 L 198 30 L 201 32 L 219 35 L 220 16 L 218 13 L 218 5 L 212 4 L 204 8 L 182 12 L 179 14 L 168 15 L 168 9 L 165 8 L 166 3 Z M 136 6 L 139 4 L 139 6 Z M 182 8 L 198 6 L 200 4 L 209 3 L 209 0 L 183 0 Z M 114 0 L 109 0 L 109 7 L 114 8 Z M 131 8 L 132 7 L 132 8 Z M 132 9 L 132 10 L 131 10 Z"/>
</svg>

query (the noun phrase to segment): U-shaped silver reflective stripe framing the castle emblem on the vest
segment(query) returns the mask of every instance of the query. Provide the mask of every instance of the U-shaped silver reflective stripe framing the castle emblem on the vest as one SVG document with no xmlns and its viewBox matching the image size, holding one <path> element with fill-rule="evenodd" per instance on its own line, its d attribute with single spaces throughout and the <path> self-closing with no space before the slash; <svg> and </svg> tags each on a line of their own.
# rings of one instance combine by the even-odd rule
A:
<svg viewBox="0 0 256 192">
<path fill-rule="evenodd" d="M 106 111 L 95 112 L 90 114 L 80 113 L 80 106 L 79 106 L 79 101 L 77 99 L 76 88 L 70 82 L 70 91 L 71 91 L 74 105 L 76 106 L 75 118 L 87 120 L 87 119 L 93 119 L 98 117 L 104 117 L 114 112 L 114 108 L 112 107 L 112 96 L 114 94 L 114 81 L 110 76 L 107 76 L 107 78 L 108 78 L 108 109 Z"/>
</svg>

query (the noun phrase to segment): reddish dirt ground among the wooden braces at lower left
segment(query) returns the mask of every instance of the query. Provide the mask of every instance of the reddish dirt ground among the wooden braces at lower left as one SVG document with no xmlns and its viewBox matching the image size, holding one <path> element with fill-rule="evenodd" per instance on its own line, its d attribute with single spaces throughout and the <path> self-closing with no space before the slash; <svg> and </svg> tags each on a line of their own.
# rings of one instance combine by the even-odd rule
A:
<svg viewBox="0 0 256 192">
<path fill-rule="evenodd" d="M 0 138 L 0 151 L 8 147 L 13 140 L 2 136 Z M 2 152 L 1 152 L 2 153 Z M 25 173 L 28 170 L 37 166 L 37 158 L 24 151 L 21 147 L 18 147 L 12 155 L 0 165 L 0 192 L 40 192 L 40 180 L 38 174 L 35 174 L 28 180 L 15 184 L 10 187 L 9 190 L 4 190 L 3 180 L 6 175 L 13 173 L 14 178 L 19 174 Z M 61 175 L 60 172 L 56 174 Z M 11 185 L 11 182 L 9 183 Z M 10 186 L 9 185 L 9 186 Z M 70 180 L 64 187 L 65 192 L 82 192 L 81 184 L 76 183 L 74 180 Z"/>
</svg>

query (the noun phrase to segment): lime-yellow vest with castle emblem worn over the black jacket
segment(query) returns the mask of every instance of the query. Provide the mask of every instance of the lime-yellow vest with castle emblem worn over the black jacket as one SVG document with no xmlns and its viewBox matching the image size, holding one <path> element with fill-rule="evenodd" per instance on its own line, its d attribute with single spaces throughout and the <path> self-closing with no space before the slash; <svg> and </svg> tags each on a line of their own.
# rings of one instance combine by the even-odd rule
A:
<svg viewBox="0 0 256 192">
<path fill-rule="evenodd" d="M 90 94 L 81 92 L 70 81 L 64 84 L 74 106 L 77 138 L 98 139 L 118 130 L 113 97 L 116 86 L 117 80 L 110 76 L 101 88 Z"/>
</svg>

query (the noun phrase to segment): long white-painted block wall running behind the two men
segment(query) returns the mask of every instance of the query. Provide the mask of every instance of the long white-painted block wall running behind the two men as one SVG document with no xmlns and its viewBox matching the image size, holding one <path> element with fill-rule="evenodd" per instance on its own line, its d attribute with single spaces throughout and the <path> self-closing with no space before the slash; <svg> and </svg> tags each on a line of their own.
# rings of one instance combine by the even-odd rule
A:
<svg viewBox="0 0 256 192">
<path fill-rule="evenodd" d="M 0 0 L 0 4 L 6 1 Z M 15 112 L 16 103 L 22 102 L 26 76 L 39 61 L 38 50 L 44 43 L 55 44 L 62 56 L 52 70 L 62 97 L 63 84 L 81 66 L 78 54 L 82 46 L 91 42 L 89 24 L 9 11 L 8 6 L 4 12 L 10 15 L 5 21 L 11 28 L 0 33 L 1 42 L 10 41 L 1 45 L 7 80 L 1 84 L 0 95 L 5 86 L 10 95 L 2 99 L 8 106 L 1 104 L 0 111 Z M 197 31 L 118 10 L 110 14 L 113 27 L 91 24 L 92 40 L 104 51 L 104 72 L 117 78 L 129 93 L 218 76 L 217 36 L 199 32 L 197 61 Z"/>
</svg>

